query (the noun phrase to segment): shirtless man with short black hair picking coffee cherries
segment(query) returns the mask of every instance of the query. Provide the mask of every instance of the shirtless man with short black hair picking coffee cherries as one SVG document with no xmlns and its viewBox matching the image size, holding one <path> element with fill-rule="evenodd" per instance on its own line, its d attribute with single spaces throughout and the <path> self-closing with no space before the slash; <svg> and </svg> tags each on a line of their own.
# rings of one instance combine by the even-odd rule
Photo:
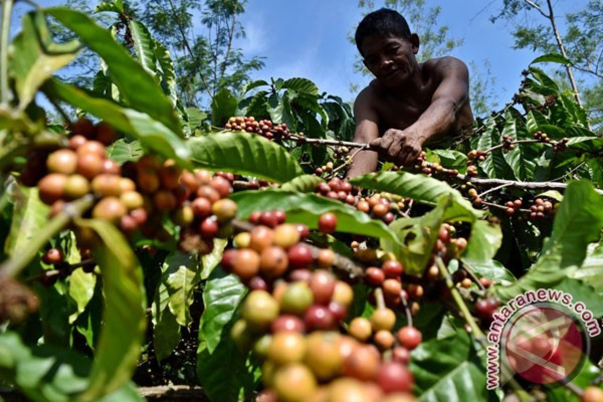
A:
<svg viewBox="0 0 603 402">
<path fill-rule="evenodd" d="M 370 143 L 374 151 L 358 152 L 348 177 L 375 171 L 379 157 L 412 163 L 424 145 L 472 124 L 466 64 L 454 57 L 418 63 L 418 36 L 397 11 L 365 16 L 355 40 L 375 79 L 356 98 L 354 141 Z"/>
</svg>

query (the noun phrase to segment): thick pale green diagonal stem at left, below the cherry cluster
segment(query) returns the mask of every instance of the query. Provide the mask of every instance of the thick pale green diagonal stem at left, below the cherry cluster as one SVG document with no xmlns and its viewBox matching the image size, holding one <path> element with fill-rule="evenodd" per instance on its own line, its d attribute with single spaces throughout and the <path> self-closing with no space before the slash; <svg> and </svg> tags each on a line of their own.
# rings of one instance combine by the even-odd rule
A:
<svg viewBox="0 0 603 402">
<path fill-rule="evenodd" d="M 66 204 L 66 206 L 63 207 L 63 210 L 52 218 L 51 221 L 41 228 L 39 233 L 31 239 L 25 250 L 20 251 L 17 256 L 6 260 L 0 265 L 0 277 L 16 277 L 16 275 L 34 259 L 40 248 L 42 248 L 52 236 L 55 236 L 55 234 L 63 230 L 63 228 L 71 222 L 71 219 L 81 216 L 92 206 L 93 201 L 94 197 L 92 195 L 86 195 L 73 203 Z"/>
</svg>

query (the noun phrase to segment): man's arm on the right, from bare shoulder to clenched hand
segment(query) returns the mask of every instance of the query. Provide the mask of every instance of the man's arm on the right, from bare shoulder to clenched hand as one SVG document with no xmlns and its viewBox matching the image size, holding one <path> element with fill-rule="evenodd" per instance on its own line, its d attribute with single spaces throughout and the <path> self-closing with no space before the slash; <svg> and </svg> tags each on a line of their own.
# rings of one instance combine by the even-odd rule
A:
<svg viewBox="0 0 603 402">
<path fill-rule="evenodd" d="M 433 68 L 440 84 L 427 110 L 405 130 L 387 130 L 371 143 L 379 146 L 388 159 L 401 165 L 417 159 L 426 141 L 449 132 L 457 112 L 469 101 L 469 71 L 463 61 L 444 57 L 437 60 Z"/>
</svg>

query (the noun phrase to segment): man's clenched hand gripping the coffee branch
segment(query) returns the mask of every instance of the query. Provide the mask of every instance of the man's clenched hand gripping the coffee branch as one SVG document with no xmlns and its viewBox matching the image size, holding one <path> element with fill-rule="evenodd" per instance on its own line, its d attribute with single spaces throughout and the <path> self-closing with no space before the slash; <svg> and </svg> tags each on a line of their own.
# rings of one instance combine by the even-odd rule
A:
<svg viewBox="0 0 603 402">
<path fill-rule="evenodd" d="M 390 128 L 382 137 L 372 140 L 370 146 L 373 151 L 379 153 L 380 157 L 404 166 L 418 158 L 423 142 L 425 138 L 420 137 L 414 130 Z"/>
</svg>

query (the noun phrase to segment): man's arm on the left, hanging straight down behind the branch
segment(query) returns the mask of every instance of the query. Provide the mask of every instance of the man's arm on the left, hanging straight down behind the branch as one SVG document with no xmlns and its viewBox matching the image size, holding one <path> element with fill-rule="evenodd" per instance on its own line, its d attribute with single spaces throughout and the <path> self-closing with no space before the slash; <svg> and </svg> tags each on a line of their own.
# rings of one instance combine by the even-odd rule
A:
<svg viewBox="0 0 603 402">
<path fill-rule="evenodd" d="M 379 137 L 379 127 L 377 125 L 378 116 L 373 107 L 371 107 L 370 88 L 366 88 L 359 93 L 354 102 L 354 116 L 356 118 L 356 132 L 354 142 L 369 143 Z M 352 154 L 356 152 L 352 150 Z M 363 149 L 355 154 L 350 169 L 347 171 L 347 177 L 355 177 L 370 173 L 377 169 L 379 155 L 377 152 Z"/>
</svg>

